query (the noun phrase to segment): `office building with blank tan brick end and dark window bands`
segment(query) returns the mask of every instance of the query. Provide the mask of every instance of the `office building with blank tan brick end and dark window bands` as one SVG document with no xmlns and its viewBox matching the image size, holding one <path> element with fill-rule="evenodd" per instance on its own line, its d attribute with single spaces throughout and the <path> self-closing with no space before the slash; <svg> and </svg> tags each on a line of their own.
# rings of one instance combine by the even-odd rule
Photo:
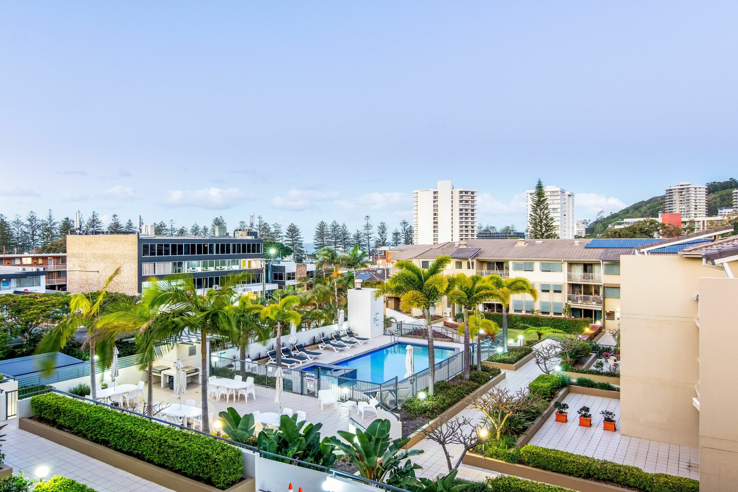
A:
<svg viewBox="0 0 738 492">
<path fill-rule="evenodd" d="M 252 235 L 152 236 L 140 232 L 71 233 L 66 238 L 67 290 L 97 291 L 116 268 L 111 291 L 139 294 L 151 280 L 168 274 L 192 274 L 196 288 L 217 288 L 227 274 L 248 273 L 243 294 L 263 290 L 263 244 Z M 277 288 L 266 284 L 266 292 Z"/>
</svg>

